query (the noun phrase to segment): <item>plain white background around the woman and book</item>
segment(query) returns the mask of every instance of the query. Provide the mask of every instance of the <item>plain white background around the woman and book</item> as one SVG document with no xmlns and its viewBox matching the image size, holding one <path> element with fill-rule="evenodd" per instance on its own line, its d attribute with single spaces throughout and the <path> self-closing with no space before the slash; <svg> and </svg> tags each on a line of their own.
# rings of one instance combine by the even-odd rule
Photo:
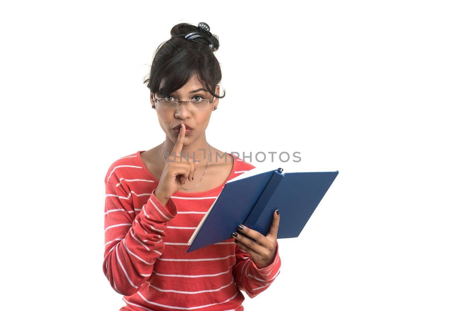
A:
<svg viewBox="0 0 466 311">
<path fill-rule="evenodd" d="M 207 141 L 301 152 L 299 163 L 256 166 L 340 171 L 301 235 L 279 240 L 281 273 L 245 294 L 245 310 L 465 310 L 460 1 L 0 11 L 2 309 L 124 305 L 102 270 L 103 179 L 117 158 L 163 141 L 142 81 L 172 26 L 204 21 L 226 90 Z"/>
</svg>

